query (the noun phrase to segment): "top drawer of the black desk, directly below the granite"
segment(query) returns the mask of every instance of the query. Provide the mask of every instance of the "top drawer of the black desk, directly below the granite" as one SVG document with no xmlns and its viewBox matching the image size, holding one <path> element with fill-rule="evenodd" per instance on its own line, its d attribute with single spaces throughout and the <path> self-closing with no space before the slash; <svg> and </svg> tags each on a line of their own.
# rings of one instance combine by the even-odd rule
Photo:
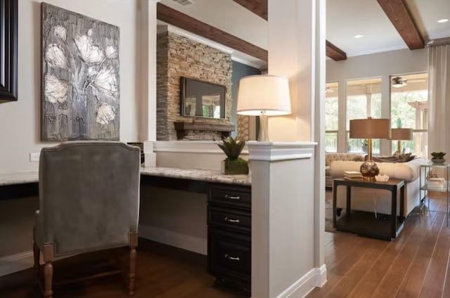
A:
<svg viewBox="0 0 450 298">
<path fill-rule="evenodd" d="M 252 205 L 251 188 L 245 186 L 211 186 L 210 202 L 250 208 Z"/>
</svg>

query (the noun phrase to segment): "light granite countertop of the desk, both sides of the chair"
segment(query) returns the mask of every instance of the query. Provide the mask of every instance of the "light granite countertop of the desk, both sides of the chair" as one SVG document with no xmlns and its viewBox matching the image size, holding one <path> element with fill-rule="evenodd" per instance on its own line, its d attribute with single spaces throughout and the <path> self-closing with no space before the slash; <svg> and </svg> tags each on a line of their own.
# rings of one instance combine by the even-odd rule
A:
<svg viewBox="0 0 450 298">
<path fill-rule="evenodd" d="M 172 167 L 141 167 L 141 175 L 162 176 L 168 178 L 191 179 L 217 183 L 251 185 L 248 175 L 224 175 L 212 169 L 178 169 Z M 35 183 L 39 181 L 38 171 L 20 173 L 0 173 L 0 186 Z"/>
</svg>

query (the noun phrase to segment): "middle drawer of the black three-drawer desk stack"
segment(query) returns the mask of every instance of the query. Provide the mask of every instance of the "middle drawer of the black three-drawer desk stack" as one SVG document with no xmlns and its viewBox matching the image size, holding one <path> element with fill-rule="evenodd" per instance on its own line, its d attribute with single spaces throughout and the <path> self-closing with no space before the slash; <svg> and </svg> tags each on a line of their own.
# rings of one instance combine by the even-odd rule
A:
<svg viewBox="0 0 450 298">
<path fill-rule="evenodd" d="M 250 212 L 208 206 L 208 225 L 222 228 L 238 228 L 250 233 L 252 217 Z"/>
</svg>

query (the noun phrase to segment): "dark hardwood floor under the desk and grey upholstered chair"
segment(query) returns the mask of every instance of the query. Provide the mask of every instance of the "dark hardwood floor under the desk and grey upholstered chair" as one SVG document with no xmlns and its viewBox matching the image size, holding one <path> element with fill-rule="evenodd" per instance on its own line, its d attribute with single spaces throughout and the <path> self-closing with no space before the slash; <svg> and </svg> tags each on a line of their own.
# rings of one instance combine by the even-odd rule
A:
<svg viewBox="0 0 450 298">
<path fill-rule="evenodd" d="M 110 266 L 117 250 L 101 254 L 82 254 L 56 261 L 55 278 L 92 273 Z M 119 254 L 120 255 L 120 254 Z M 80 267 L 82 269 L 80 270 Z M 86 268 L 88 268 L 86 270 Z M 76 273 L 74 273 L 77 271 Z M 139 239 L 136 268 L 136 298 L 152 297 L 248 297 L 240 292 L 214 286 L 215 278 L 206 272 L 206 257 L 167 245 Z M 39 296 L 35 271 L 27 269 L 0 278 L 1 298 L 34 298 Z M 55 298 L 122 298 L 129 297 L 122 276 L 96 278 L 54 288 Z"/>
</svg>

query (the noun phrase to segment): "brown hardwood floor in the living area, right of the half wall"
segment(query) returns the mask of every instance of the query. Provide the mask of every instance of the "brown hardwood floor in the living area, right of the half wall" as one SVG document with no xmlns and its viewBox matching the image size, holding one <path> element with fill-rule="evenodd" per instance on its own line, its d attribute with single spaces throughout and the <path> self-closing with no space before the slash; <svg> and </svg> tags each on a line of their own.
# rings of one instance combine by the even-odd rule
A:
<svg viewBox="0 0 450 298">
<path fill-rule="evenodd" d="M 431 199 L 419 224 L 407 219 L 394 241 L 326 233 L 328 282 L 307 297 L 450 297 L 446 200 Z"/>
</svg>

